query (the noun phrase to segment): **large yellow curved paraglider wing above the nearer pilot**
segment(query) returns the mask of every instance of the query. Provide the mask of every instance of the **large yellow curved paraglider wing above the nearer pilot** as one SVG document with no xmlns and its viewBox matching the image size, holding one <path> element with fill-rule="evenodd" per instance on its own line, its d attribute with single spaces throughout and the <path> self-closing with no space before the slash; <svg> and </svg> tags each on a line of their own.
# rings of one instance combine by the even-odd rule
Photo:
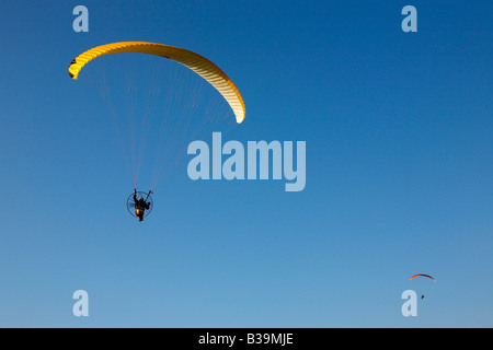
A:
<svg viewBox="0 0 493 350">
<path fill-rule="evenodd" d="M 76 57 L 68 69 L 70 78 L 77 79 L 82 67 L 92 59 L 110 54 L 141 52 L 161 56 L 176 61 L 204 78 L 228 102 L 234 113 L 237 122 L 242 122 L 245 115 L 243 98 L 231 79 L 208 59 L 190 50 L 163 44 L 146 42 L 122 42 L 94 47 Z"/>
</svg>

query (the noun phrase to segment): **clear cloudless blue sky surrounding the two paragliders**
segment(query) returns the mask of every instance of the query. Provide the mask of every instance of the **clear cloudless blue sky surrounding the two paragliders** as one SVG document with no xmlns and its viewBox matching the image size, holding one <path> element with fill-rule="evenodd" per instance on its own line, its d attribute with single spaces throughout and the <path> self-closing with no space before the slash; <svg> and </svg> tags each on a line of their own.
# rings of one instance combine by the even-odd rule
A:
<svg viewBox="0 0 493 350">
<path fill-rule="evenodd" d="M 89 33 L 72 31 L 78 4 Z M 417 33 L 401 31 L 406 4 Z M 492 327 L 492 10 L 3 0 L 0 326 Z M 246 105 L 231 138 L 306 141 L 305 190 L 193 182 L 185 155 L 138 223 L 110 119 L 67 74 L 123 40 L 216 62 Z M 437 282 L 406 318 L 414 273 Z"/>
</svg>

